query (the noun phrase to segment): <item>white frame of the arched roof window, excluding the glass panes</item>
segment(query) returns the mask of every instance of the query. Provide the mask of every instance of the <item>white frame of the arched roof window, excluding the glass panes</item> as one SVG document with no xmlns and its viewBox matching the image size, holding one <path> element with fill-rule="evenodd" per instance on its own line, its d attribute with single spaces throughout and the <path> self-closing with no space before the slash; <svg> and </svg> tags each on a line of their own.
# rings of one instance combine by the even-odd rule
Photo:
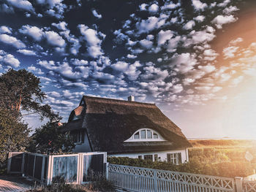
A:
<svg viewBox="0 0 256 192">
<path fill-rule="evenodd" d="M 141 131 L 146 131 L 146 138 L 141 138 Z M 148 138 L 148 131 L 151 131 L 151 138 Z M 135 138 L 135 134 L 139 134 L 139 138 Z M 157 134 L 157 138 L 154 139 L 154 134 Z M 151 128 L 140 128 L 132 137 L 125 140 L 124 142 L 163 142 L 166 141 L 157 131 L 154 131 Z"/>
</svg>

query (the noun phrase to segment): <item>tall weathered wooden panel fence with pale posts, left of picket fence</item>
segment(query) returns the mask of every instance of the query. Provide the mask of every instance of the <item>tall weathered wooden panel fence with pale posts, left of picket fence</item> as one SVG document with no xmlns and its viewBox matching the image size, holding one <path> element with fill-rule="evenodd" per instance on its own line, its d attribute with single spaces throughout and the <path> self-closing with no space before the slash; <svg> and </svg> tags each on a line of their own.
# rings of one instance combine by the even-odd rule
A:
<svg viewBox="0 0 256 192">
<path fill-rule="evenodd" d="M 95 175 L 104 175 L 106 161 L 107 153 L 104 152 L 67 155 L 10 152 L 7 172 L 47 184 L 60 177 L 67 183 L 83 184 L 93 181 Z"/>
</svg>

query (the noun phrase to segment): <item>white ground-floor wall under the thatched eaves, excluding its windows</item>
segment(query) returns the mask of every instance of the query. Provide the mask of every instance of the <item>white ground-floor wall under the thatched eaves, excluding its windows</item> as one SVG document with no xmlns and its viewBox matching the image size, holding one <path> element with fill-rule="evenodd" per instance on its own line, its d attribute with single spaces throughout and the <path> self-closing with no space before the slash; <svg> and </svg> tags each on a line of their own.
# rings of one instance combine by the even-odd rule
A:
<svg viewBox="0 0 256 192">
<path fill-rule="evenodd" d="M 185 163 L 185 161 L 189 161 L 187 148 L 183 150 L 164 150 L 164 151 L 146 152 L 146 153 L 119 153 L 119 154 L 111 154 L 108 156 L 138 158 L 138 155 L 142 155 L 142 157 L 143 155 L 153 155 L 153 161 L 154 161 L 154 155 L 157 154 L 158 157 L 161 158 L 161 161 L 167 161 L 167 153 L 181 153 L 182 164 Z"/>
</svg>

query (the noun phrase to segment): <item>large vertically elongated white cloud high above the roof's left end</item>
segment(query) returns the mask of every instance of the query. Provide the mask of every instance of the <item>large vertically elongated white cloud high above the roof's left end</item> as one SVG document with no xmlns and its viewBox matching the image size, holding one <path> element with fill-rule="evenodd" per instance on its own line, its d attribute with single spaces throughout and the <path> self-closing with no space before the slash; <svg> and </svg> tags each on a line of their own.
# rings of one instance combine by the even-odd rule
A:
<svg viewBox="0 0 256 192">
<path fill-rule="evenodd" d="M 83 38 L 86 40 L 88 53 L 92 58 L 97 58 L 99 55 L 103 55 L 101 44 L 102 40 L 99 37 L 105 38 L 104 34 L 98 33 L 92 28 L 85 26 L 83 24 L 79 25 L 80 33 L 83 35 Z"/>
</svg>

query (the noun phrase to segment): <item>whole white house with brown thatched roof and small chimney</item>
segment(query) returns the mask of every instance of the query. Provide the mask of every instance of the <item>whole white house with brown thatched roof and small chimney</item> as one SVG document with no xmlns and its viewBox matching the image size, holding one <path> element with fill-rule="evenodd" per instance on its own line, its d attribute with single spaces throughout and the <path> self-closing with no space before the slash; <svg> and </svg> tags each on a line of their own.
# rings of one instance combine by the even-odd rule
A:
<svg viewBox="0 0 256 192">
<path fill-rule="evenodd" d="M 156 106 L 83 96 L 72 110 L 64 131 L 75 139 L 75 152 L 105 151 L 110 156 L 170 161 L 189 160 L 192 147 L 181 129 Z"/>
</svg>

